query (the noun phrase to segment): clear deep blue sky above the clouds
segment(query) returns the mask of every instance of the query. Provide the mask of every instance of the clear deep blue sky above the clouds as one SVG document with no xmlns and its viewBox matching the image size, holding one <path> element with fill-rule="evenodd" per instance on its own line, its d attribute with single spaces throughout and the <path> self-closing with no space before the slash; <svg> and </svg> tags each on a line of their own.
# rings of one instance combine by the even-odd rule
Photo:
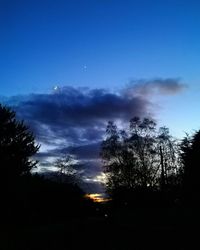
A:
<svg viewBox="0 0 200 250">
<path fill-rule="evenodd" d="M 197 84 L 199 13 L 196 0 L 1 0 L 0 91 L 151 77 Z"/>
</svg>

